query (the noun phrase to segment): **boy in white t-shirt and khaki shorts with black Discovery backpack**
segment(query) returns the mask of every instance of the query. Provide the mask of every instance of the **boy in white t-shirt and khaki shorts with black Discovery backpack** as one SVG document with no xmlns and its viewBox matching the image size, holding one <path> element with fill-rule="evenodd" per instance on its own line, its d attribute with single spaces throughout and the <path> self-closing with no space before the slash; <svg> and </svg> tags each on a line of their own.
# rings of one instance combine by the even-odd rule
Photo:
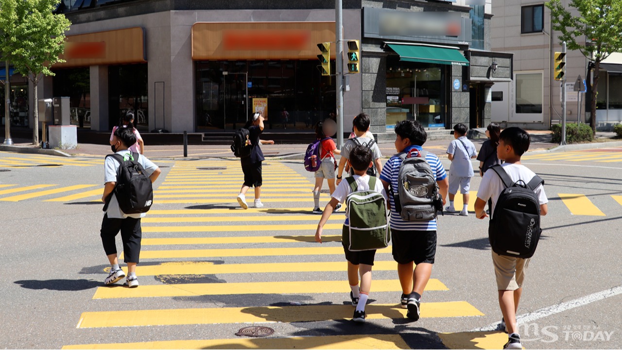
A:
<svg viewBox="0 0 622 350">
<path fill-rule="evenodd" d="M 529 266 L 529 257 L 536 248 L 541 232 L 540 216 L 548 212 L 548 199 L 542 186 L 544 182 L 533 171 L 521 164 L 521 156 L 529 149 L 529 142 L 529 134 L 521 128 L 507 128 L 501 132 L 497 156 L 506 163 L 486 171 L 481 179 L 475 201 L 475 215 L 478 219 L 488 216 L 484 211 L 486 201 L 490 201 L 490 211 L 493 214 L 488 235 L 493 248 L 494 273 L 499 291 L 499 306 L 503 314 L 501 324 L 506 324 L 509 334 L 508 343 L 505 344 L 504 349 L 522 348 L 516 324 L 516 311 L 521 299 L 522 283 Z M 511 184 L 508 184 L 507 182 L 510 181 Z M 506 191 L 507 187 L 511 187 L 513 191 Z M 517 198 L 516 196 L 521 192 L 528 196 L 521 197 L 524 198 L 520 199 L 522 202 L 514 199 L 516 203 L 513 205 L 514 210 L 506 210 L 508 204 L 513 203 L 511 197 Z M 533 207 L 531 213 L 524 212 L 529 207 Z M 522 210 L 519 215 L 522 218 L 527 217 L 528 222 L 510 217 L 516 210 Z M 519 231 L 517 232 L 518 242 L 514 245 L 516 248 L 499 250 L 499 244 L 511 242 L 514 231 L 517 230 Z M 527 253 L 522 252 L 524 248 L 529 248 Z"/>
</svg>

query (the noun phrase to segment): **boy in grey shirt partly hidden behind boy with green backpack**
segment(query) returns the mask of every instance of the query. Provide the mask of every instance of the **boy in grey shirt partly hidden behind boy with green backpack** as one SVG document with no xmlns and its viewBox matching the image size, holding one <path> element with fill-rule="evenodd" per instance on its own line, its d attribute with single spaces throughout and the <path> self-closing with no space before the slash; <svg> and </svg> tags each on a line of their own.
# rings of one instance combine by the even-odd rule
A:
<svg viewBox="0 0 622 350">
<path fill-rule="evenodd" d="M 380 153 L 378 143 L 376 143 L 373 137 L 369 138 L 367 136 L 367 133 L 369 133 L 370 123 L 371 121 L 369 120 L 369 116 L 365 113 L 357 115 L 354 120 L 352 120 L 352 131 L 355 134 L 355 137 L 348 139 L 341 147 L 341 159 L 339 160 L 339 168 L 337 170 L 337 185 L 341 182 L 343 169 L 346 166 L 346 161 L 350 159 L 350 151 L 358 145 L 363 145 L 369 148 L 369 150 L 373 154 L 374 166 L 369 168 L 367 170 L 367 173 L 370 176 L 378 176 L 378 174 L 380 174 L 380 171 L 383 168 L 383 164 L 380 162 L 380 158 L 382 158 L 383 155 Z"/>
</svg>

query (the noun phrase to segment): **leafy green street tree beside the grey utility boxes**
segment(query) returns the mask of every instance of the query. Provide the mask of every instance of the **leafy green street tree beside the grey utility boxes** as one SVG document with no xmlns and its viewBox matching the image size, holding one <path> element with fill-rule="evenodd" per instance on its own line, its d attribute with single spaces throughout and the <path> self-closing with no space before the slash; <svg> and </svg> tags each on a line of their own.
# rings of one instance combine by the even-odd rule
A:
<svg viewBox="0 0 622 350">
<path fill-rule="evenodd" d="M 28 77 L 34 87 L 34 125 L 32 143 L 39 145 L 37 85 L 44 75 L 54 75 L 50 66 L 65 62 L 59 58 L 65 45 L 65 31 L 71 22 L 63 14 L 53 14 L 59 0 L 2 0 L 0 30 L 6 40 L 0 42 L 14 69 Z"/>
</svg>

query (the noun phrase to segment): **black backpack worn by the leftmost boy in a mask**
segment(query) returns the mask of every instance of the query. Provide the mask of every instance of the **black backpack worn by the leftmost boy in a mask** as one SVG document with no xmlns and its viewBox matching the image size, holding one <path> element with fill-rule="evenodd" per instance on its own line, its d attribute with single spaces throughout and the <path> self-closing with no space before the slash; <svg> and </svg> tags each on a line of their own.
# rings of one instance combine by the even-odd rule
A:
<svg viewBox="0 0 622 350">
<path fill-rule="evenodd" d="M 147 212 L 154 199 L 154 190 L 151 179 L 145 173 L 145 169 L 138 163 L 138 153 L 132 152 L 128 160 L 124 160 L 121 154 L 109 154 L 106 158 L 112 157 L 119 162 L 117 170 L 117 181 L 114 184 L 113 193 L 119 202 L 119 208 L 124 214 L 140 214 Z M 109 196 L 106 199 L 104 211 L 110 202 Z"/>
</svg>

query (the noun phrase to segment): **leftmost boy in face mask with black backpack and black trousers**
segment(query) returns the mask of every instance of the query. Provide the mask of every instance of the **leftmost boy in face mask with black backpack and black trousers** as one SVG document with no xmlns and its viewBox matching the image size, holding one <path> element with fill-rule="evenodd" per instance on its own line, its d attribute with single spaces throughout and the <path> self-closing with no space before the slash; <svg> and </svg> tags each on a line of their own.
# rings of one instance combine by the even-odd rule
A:
<svg viewBox="0 0 622 350">
<path fill-rule="evenodd" d="M 141 217 L 151 207 L 151 184 L 160 176 L 160 168 L 142 154 L 129 151 L 128 147 L 136 143 L 136 136 L 130 128 L 117 128 L 110 143 L 114 154 L 106 156 L 104 161 L 106 184 L 101 197 L 101 201 L 106 204 L 106 214 L 101 222 L 100 236 L 111 265 L 104 283 L 109 285 L 125 277 L 119 267 L 114 242 L 114 237 L 120 230 L 124 262 L 128 264 L 125 284 L 134 288 L 138 286 L 136 264 L 141 253 Z M 130 181 L 132 186 L 129 186 Z"/>
</svg>

